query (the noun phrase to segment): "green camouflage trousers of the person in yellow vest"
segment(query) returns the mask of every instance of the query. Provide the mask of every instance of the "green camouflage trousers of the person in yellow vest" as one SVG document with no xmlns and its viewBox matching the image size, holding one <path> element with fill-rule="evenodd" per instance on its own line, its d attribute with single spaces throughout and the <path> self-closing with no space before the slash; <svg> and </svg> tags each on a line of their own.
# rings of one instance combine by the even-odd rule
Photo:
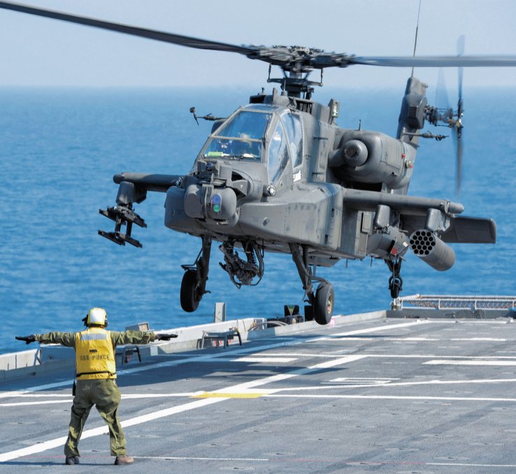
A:
<svg viewBox="0 0 516 474">
<path fill-rule="evenodd" d="M 113 379 L 78 380 L 76 396 L 73 397 L 68 439 L 64 445 L 66 456 L 80 456 L 78 443 L 89 410 L 95 405 L 96 410 L 109 426 L 109 444 L 111 456 L 123 456 L 125 436 L 118 419 L 120 389 Z"/>
</svg>

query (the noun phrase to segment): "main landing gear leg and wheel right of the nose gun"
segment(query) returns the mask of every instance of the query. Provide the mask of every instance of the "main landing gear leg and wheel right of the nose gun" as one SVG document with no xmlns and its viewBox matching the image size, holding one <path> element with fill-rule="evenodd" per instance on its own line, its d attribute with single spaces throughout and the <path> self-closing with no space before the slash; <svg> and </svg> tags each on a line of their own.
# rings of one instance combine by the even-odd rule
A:
<svg viewBox="0 0 516 474">
<path fill-rule="evenodd" d="M 328 324 L 334 315 L 334 286 L 330 282 L 315 276 L 316 264 L 315 261 L 312 261 L 310 264 L 308 247 L 306 245 L 301 245 L 300 249 L 299 245 L 291 243 L 289 247 L 292 259 L 296 264 L 299 277 L 303 283 L 308 303 L 310 303 L 309 306 L 305 306 L 305 320 L 311 321 L 315 319 L 318 324 Z M 313 280 L 320 282 L 315 293 L 312 285 Z"/>
</svg>

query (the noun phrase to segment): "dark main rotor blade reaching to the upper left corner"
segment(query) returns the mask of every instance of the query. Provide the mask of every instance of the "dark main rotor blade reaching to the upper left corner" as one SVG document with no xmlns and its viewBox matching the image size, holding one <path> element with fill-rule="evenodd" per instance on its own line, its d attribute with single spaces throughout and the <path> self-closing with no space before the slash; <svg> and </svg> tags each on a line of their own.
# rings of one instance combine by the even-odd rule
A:
<svg viewBox="0 0 516 474">
<path fill-rule="evenodd" d="M 242 55 L 254 54 L 257 51 L 257 48 L 231 45 L 228 43 L 219 43 L 217 41 L 208 41 L 200 38 L 194 38 L 192 36 L 182 36 L 180 34 L 166 33 L 164 31 L 156 31 L 153 29 L 131 27 L 127 24 L 105 22 L 103 20 L 95 20 L 94 18 L 80 17 L 78 15 L 70 15 L 68 13 L 61 13 L 54 10 L 33 8 L 31 6 L 21 5 L 20 3 L 0 1 L 0 8 L 3 8 L 4 10 L 13 10 L 20 13 L 28 13 L 29 15 L 52 18 L 54 20 L 62 20 L 64 22 L 84 24 L 88 27 L 108 29 L 110 31 L 117 31 L 119 33 L 130 34 L 132 36 L 141 36 L 143 38 L 164 41 L 165 43 L 187 46 L 188 48 L 238 52 Z"/>
</svg>

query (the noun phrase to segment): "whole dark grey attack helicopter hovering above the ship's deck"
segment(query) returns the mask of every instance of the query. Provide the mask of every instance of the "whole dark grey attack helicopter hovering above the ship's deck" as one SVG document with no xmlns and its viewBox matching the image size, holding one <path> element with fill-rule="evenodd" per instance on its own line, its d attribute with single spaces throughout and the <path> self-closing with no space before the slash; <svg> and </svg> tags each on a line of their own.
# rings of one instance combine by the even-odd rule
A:
<svg viewBox="0 0 516 474">
<path fill-rule="evenodd" d="M 153 31 L 65 13 L 0 2 L 0 8 L 85 24 L 189 48 L 236 52 L 269 64 L 268 82 L 281 92 L 257 94 L 227 118 L 214 120 L 208 140 L 186 175 L 120 173 L 116 206 L 101 210 L 115 221 L 115 231 L 99 231 L 113 242 L 141 247 L 131 236 L 133 224 L 146 227 L 134 204 L 149 191 L 166 193 L 164 223 L 169 229 L 199 236 L 194 264 L 183 265 L 182 308 L 196 310 L 206 294 L 210 250 L 220 242 L 222 268 L 237 287 L 256 285 L 264 275 L 264 253 L 292 254 L 308 305 L 306 319 L 327 324 L 334 308 L 334 289 L 315 274 L 318 266 L 341 259 L 383 259 L 391 273 L 393 298 L 402 289 L 403 255 L 409 248 L 438 271 L 452 267 L 448 243 L 494 243 L 490 219 L 461 217 L 460 203 L 408 196 L 424 122 L 462 129 L 458 110 L 429 106 L 427 85 L 410 76 L 401 103 L 396 138 L 378 131 L 343 129 L 336 124 L 339 103 L 312 99 L 308 80 L 315 69 L 353 65 L 391 67 L 516 66 L 516 57 L 357 57 L 322 50 L 231 45 Z M 282 78 L 271 78 L 280 66 Z M 460 182 L 461 148 L 457 154 Z M 126 226 L 122 233 L 122 226 Z M 236 251 L 241 249 L 242 257 Z M 314 288 L 317 282 L 317 290 Z"/>
</svg>

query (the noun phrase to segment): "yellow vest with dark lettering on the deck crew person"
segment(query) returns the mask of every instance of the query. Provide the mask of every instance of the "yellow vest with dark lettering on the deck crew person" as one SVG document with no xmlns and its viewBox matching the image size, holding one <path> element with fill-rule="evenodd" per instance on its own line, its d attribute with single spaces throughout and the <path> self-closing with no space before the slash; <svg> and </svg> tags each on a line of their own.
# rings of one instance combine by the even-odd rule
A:
<svg viewBox="0 0 516 474">
<path fill-rule="evenodd" d="M 90 327 L 76 333 L 76 370 L 78 380 L 117 378 L 110 331 Z"/>
</svg>

